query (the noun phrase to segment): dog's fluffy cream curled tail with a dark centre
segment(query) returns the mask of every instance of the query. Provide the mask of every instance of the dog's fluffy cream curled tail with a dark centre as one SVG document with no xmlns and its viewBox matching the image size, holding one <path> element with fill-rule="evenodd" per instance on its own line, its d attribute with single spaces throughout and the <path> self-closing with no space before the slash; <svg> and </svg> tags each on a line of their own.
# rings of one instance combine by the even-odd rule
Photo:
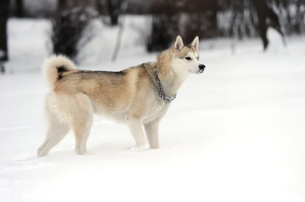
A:
<svg viewBox="0 0 305 202">
<path fill-rule="evenodd" d="M 53 55 L 46 59 L 42 65 L 43 76 L 51 89 L 60 78 L 60 74 L 71 70 L 76 70 L 76 66 L 72 60 L 64 55 Z"/>
</svg>

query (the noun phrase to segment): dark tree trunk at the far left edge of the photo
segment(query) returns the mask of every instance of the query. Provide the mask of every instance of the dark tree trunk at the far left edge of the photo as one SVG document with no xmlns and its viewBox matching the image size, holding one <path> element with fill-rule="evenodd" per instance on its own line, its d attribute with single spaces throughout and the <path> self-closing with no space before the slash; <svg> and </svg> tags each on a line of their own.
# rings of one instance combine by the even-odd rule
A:
<svg viewBox="0 0 305 202">
<path fill-rule="evenodd" d="M 7 22 L 9 18 L 9 0 L 0 1 L 0 61 L 8 61 L 8 37 L 7 37 Z"/>
</svg>

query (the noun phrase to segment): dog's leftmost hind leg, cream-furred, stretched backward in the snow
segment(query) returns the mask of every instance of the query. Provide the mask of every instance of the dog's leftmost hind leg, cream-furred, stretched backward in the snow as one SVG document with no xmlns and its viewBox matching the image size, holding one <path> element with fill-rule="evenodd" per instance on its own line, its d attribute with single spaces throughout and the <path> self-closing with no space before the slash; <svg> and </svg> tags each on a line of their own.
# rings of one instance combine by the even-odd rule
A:
<svg viewBox="0 0 305 202">
<path fill-rule="evenodd" d="M 48 113 L 48 133 L 45 141 L 37 150 L 37 156 L 46 156 L 49 151 L 56 146 L 70 131 L 68 124 L 60 122 L 59 119 L 49 110 Z"/>
</svg>

